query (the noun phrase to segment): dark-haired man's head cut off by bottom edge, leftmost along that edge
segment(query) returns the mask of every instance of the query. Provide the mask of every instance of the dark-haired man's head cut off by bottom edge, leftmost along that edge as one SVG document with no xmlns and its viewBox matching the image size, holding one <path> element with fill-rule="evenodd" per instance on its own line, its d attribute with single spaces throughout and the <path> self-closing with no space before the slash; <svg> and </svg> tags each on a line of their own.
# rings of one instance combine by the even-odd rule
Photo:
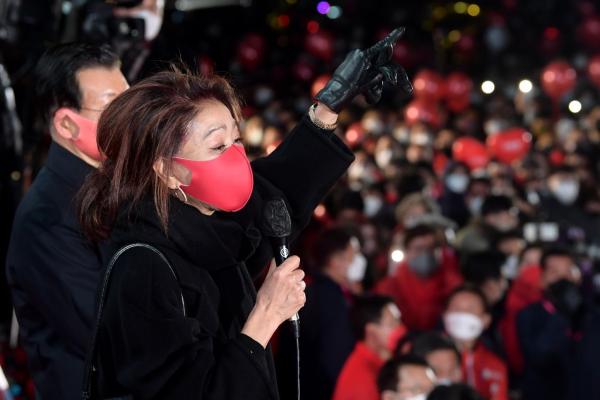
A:
<svg viewBox="0 0 600 400">
<path fill-rule="evenodd" d="M 435 382 L 435 372 L 427 362 L 412 354 L 392 358 L 377 377 L 381 400 L 425 400 Z"/>
</svg>

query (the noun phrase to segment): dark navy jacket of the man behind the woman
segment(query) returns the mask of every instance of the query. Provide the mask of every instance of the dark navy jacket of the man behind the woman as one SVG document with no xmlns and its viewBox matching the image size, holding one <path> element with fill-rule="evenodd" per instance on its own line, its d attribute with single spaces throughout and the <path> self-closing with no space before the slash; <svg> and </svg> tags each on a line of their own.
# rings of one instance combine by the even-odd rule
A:
<svg viewBox="0 0 600 400">
<path fill-rule="evenodd" d="M 19 205 L 6 274 L 38 398 L 79 399 L 100 255 L 74 198 L 92 167 L 56 143 Z"/>
</svg>

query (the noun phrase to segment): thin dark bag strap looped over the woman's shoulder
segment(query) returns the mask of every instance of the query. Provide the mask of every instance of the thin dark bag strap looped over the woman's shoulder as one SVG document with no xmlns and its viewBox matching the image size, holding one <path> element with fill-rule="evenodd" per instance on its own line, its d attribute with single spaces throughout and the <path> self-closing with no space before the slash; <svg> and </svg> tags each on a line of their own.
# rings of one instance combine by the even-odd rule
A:
<svg viewBox="0 0 600 400">
<path fill-rule="evenodd" d="M 83 370 L 84 375 L 83 375 L 83 393 L 82 393 L 82 395 L 83 395 L 84 400 L 91 400 L 93 398 L 92 384 L 94 381 L 94 375 L 97 371 L 95 362 L 96 362 L 96 346 L 97 346 L 97 340 L 98 340 L 98 331 L 100 329 L 100 323 L 102 322 L 102 314 L 104 311 L 104 303 L 106 301 L 106 294 L 108 292 L 108 286 L 110 284 L 110 276 L 111 276 L 113 267 L 117 263 L 117 260 L 119 259 L 119 257 L 121 255 L 123 255 L 123 253 L 125 253 L 127 250 L 132 249 L 134 247 L 144 247 L 144 248 L 149 249 L 149 250 L 153 251 L 154 253 L 156 253 L 165 262 L 165 264 L 167 264 L 167 266 L 169 267 L 169 270 L 171 271 L 171 274 L 173 274 L 173 277 L 177 281 L 177 285 L 180 287 L 180 290 L 181 290 L 181 285 L 180 285 L 179 277 L 177 276 L 177 273 L 175 272 L 175 270 L 169 263 L 169 260 L 167 260 L 167 257 L 165 257 L 165 255 L 160 250 L 158 250 L 156 247 L 151 246 L 146 243 L 132 243 L 132 244 L 123 246 L 119 250 L 117 250 L 117 252 L 113 255 L 110 262 L 108 263 L 108 267 L 106 268 L 106 271 L 104 273 L 104 279 L 102 282 L 102 286 L 100 287 L 98 309 L 96 312 L 96 321 L 94 324 L 94 331 L 92 334 L 92 342 L 88 349 L 88 353 L 87 353 L 86 360 L 85 360 L 85 368 Z M 181 310 L 183 312 L 183 315 L 186 316 L 187 313 L 186 313 L 186 308 L 185 308 L 185 300 L 183 299 L 183 293 L 180 292 L 180 296 L 181 296 Z"/>
</svg>

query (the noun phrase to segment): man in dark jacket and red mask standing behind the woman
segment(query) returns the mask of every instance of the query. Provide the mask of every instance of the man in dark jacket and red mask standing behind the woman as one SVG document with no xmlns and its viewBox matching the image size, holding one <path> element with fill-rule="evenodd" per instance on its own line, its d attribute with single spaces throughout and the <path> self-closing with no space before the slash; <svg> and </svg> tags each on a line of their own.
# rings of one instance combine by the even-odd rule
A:
<svg viewBox="0 0 600 400">
<path fill-rule="evenodd" d="M 103 158 L 100 114 L 127 88 L 106 46 L 59 45 L 37 64 L 37 110 L 52 144 L 15 215 L 6 274 L 40 399 L 81 397 L 102 264 L 83 237 L 75 197 Z"/>
</svg>

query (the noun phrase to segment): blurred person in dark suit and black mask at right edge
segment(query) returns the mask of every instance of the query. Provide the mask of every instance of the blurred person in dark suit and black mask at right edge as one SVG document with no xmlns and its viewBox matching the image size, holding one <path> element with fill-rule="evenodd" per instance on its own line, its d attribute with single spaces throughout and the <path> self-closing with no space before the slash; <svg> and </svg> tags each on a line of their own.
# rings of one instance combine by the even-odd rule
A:
<svg viewBox="0 0 600 400">
<path fill-rule="evenodd" d="M 581 288 L 574 256 L 551 247 L 542 256 L 542 300 L 517 314 L 523 398 L 597 399 L 600 313 Z"/>
</svg>

